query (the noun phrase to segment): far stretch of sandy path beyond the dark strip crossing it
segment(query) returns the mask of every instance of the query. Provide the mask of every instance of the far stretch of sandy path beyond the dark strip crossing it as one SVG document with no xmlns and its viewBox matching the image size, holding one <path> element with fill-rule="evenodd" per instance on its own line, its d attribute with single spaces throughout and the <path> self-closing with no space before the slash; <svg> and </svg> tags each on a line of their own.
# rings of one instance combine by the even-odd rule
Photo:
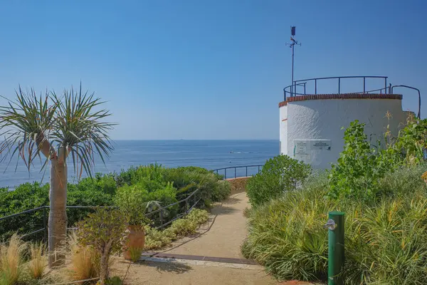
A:
<svg viewBox="0 0 427 285">
<path fill-rule="evenodd" d="M 246 238 L 246 217 L 243 210 L 248 207 L 246 192 L 231 195 L 226 201 L 211 209 L 209 224 L 199 229 L 194 237 L 186 237 L 172 244 L 172 248 L 161 252 L 205 257 L 243 258 L 241 244 Z"/>
</svg>

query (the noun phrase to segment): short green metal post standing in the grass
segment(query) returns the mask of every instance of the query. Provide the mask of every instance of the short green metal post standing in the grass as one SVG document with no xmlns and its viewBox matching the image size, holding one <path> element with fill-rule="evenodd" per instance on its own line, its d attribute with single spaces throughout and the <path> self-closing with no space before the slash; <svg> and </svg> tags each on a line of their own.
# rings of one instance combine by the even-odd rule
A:
<svg viewBox="0 0 427 285">
<path fill-rule="evenodd" d="M 342 276 L 339 274 L 344 266 L 344 212 L 330 212 L 328 224 L 329 227 L 329 246 L 328 246 L 328 269 L 327 284 L 342 285 L 344 284 Z"/>
</svg>

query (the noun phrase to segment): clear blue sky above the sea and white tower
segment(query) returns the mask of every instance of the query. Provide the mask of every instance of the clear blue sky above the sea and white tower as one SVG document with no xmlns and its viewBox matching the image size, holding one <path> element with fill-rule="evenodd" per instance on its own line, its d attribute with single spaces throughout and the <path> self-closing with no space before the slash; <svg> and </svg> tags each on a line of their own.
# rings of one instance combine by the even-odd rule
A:
<svg viewBox="0 0 427 285">
<path fill-rule="evenodd" d="M 426 14 L 423 0 L 1 1 L 0 94 L 82 81 L 114 139 L 278 139 L 291 25 L 295 79 L 384 75 L 426 95 Z"/>
</svg>

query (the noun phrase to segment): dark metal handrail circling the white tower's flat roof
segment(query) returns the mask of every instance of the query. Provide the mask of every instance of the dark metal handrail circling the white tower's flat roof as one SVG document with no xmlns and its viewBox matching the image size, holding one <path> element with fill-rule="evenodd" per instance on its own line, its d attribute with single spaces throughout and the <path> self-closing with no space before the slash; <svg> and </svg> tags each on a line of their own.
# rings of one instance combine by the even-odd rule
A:
<svg viewBox="0 0 427 285">
<path fill-rule="evenodd" d="M 387 76 L 333 76 L 333 77 L 319 77 L 319 78 L 308 78 L 308 79 L 302 79 L 302 80 L 297 80 L 297 81 L 293 81 L 292 85 L 290 86 L 286 86 L 285 88 L 283 88 L 283 96 L 284 96 L 284 100 L 286 100 L 287 95 L 290 94 L 290 97 L 294 97 L 295 95 L 307 95 L 306 94 L 306 88 L 305 88 L 305 84 L 307 83 L 307 81 L 315 81 L 315 95 L 317 95 L 317 81 L 321 81 L 321 80 L 328 80 L 328 79 L 337 79 L 338 80 L 338 94 L 341 94 L 341 79 L 344 78 L 363 78 L 363 92 L 354 92 L 354 93 L 367 93 L 367 92 L 372 92 L 371 91 L 367 91 L 366 90 L 366 79 L 367 78 L 381 78 L 384 79 L 384 88 L 378 89 L 378 90 L 384 90 L 384 94 L 387 93 L 387 91 L 389 91 L 389 93 L 391 92 L 390 87 L 387 86 Z M 304 93 L 297 93 L 297 86 L 301 86 L 303 84 L 304 86 Z M 388 90 L 387 90 L 388 89 Z"/>
</svg>

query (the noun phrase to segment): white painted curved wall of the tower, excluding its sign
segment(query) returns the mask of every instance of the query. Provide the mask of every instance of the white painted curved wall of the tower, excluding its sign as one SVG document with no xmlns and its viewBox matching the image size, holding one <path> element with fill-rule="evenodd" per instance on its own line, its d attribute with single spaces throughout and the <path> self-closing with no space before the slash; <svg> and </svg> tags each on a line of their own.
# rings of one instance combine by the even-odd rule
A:
<svg viewBox="0 0 427 285">
<path fill-rule="evenodd" d="M 393 118 L 385 118 L 389 111 Z M 283 119 L 286 116 L 285 124 Z M 344 130 L 353 120 L 366 123 L 368 140 L 376 145 L 383 139 L 386 125 L 397 135 L 406 115 L 399 99 L 320 99 L 288 102 L 280 108 L 280 145 L 282 154 L 294 157 L 294 140 L 330 140 L 330 150 L 308 150 L 305 162 L 313 168 L 329 168 L 344 146 Z M 310 143 L 309 143 L 310 145 Z M 297 155 L 301 157 L 301 155 Z"/>
</svg>

